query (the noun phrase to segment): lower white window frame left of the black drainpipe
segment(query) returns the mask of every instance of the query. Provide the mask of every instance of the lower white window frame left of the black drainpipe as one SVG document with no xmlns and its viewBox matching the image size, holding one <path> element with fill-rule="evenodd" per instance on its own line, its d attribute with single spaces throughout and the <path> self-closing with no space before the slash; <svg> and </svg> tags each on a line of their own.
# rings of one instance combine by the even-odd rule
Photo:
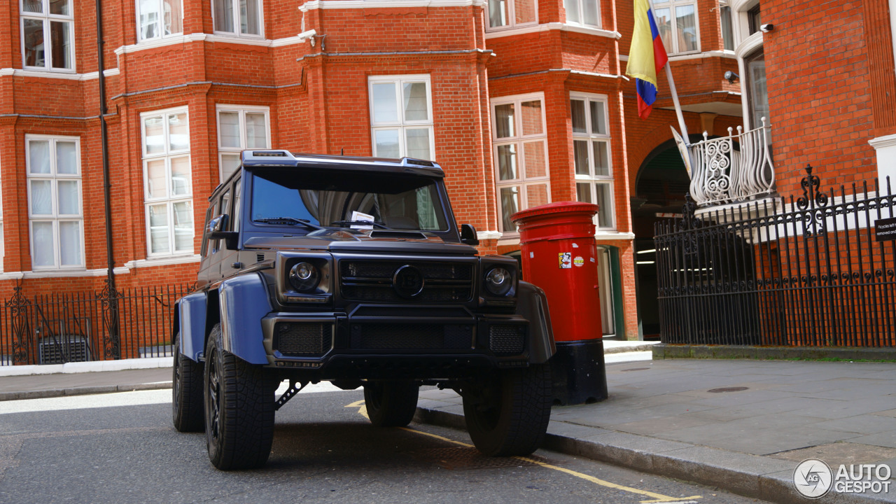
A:
<svg viewBox="0 0 896 504">
<path fill-rule="evenodd" d="M 49 173 L 34 173 L 32 174 L 31 169 L 31 150 L 30 143 L 38 141 L 38 142 L 49 142 L 50 143 L 50 172 Z M 74 143 L 74 157 L 75 157 L 75 167 L 77 168 L 77 173 L 75 174 L 59 174 L 56 173 L 56 143 L 57 142 L 66 142 L 66 143 Z M 83 270 L 85 267 L 85 256 L 84 256 L 84 201 L 83 201 L 83 184 L 82 184 L 82 166 L 81 166 L 81 137 L 79 136 L 63 136 L 63 135 L 25 135 L 25 174 L 27 179 L 27 193 L 28 193 L 28 234 L 29 234 L 29 245 L 30 245 L 30 257 L 31 257 L 31 270 L 32 271 L 46 271 L 46 270 Z M 35 181 L 45 180 L 49 181 L 51 184 L 50 190 L 50 199 L 52 205 L 52 212 L 50 214 L 39 214 L 34 215 L 33 211 L 33 202 L 31 197 L 31 184 Z M 62 214 L 59 213 L 58 208 L 58 191 L 57 185 L 60 181 L 74 181 L 78 185 L 78 211 L 79 213 L 67 213 Z M 35 222 L 51 222 L 53 224 L 53 265 L 34 265 L 34 223 Z M 62 250 L 60 246 L 60 231 L 59 231 L 59 223 L 60 222 L 78 222 L 78 230 L 80 232 L 79 242 L 81 245 L 80 256 L 81 256 L 81 264 L 80 265 L 62 265 Z"/>
</svg>

